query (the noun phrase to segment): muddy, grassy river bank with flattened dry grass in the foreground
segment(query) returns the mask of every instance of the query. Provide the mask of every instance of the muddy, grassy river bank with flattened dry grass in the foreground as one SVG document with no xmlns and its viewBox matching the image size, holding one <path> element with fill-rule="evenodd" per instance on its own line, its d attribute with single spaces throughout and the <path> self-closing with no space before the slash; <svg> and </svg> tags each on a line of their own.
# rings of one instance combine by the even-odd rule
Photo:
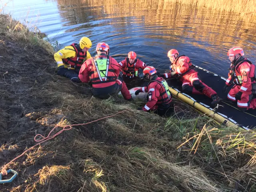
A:
<svg viewBox="0 0 256 192">
<path fill-rule="evenodd" d="M 40 33 L 6 15 L 0 26 L 0 166 L 57 124 L 124 111 L 74 126 L 27 152 L 8 166 L 18 179 L 0 191 L 256 190 L 253 131 L 219 126 L 178 100 L 169 119 L 136 110 L 136 102 L 97 100 L 87 85 L 54 75 L 53 49 Z"/>
</svg>

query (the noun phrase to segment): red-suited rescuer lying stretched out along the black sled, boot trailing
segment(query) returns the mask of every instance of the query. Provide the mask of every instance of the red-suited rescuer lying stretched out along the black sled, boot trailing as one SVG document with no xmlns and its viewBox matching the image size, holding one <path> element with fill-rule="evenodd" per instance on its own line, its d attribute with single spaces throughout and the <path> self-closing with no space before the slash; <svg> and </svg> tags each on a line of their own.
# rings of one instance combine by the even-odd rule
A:
<svg viewBox="0 0 256 192">
<path fill-rule="evenodd" d="M 175 49 L 171 49 L 168 54 L 171 61 L 170 72 L 159 75 L 164 78 L 178 77 L 182 81 L 182 90 L 189 94 L 204 94 L 212 99 L 212 106 L 216 106 L 222 99 L 217 93 L 204 84 L 199 78 L 198 73 L 193 70 L 193 65 L 185 55 L 179 56 Z"/>
</svg>

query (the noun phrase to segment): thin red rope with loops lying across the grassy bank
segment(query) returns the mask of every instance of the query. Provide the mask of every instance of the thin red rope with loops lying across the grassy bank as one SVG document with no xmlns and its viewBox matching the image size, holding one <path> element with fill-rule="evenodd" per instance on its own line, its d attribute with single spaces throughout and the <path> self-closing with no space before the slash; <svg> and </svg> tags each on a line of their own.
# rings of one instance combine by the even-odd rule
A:
<svg viewBox="0 0 256 192">
<path fill-rule="evenodd" d="M 60 130 L 59 132 L 57 132 L 56 134 L 54 134 L 54 135 L 52 135 L 52 136 L 50 136 L 50 134 L 54 131 L 55 128 L 60 127 L 59 125 L 55 126 L 55 127 L 50 131 L 50 133 L 48 134 L 47 137 L 44 137 L 44 136 L 42 136 L 41 134 L 37 134 L 37 135 L 34 137 L 34 140 L 35 140 L 35 142 L 39 142 L 39 143 L 36 144 L 36 145 L 34 145 L 34 146 L 32 146 L 32 147 L 30 147 L 29 149 L 27 149 L 26 151 L 24 151 L 21 155 L 19 155 L 18 157 L 14 158 L 13 160 L 11 160 L 8 164 L 6 164 L 6 165 L 4 166 L 4 168 L 2 169 L 2 172 L 1 172 L 1 173 L 4 173 L 4 171 L 6 171 L 6 167 L 7 167 L 10 163 L 14 162 L 16 159 L 18 159 L 18 158 L 20 158 L 21 156 L 23 156 L 27 151 L 31 150 L 31 149 L 34 148 L 35 146 L 38 146 L 38 145 L 40 145 L 40 144 L 46 142 L 47 140 L 50 140 L 50 139 L 56 137 L 57 135 L 61 134 L 62 132 L 66 131 L 66 130 L 72 129 L 73 126 L 87 125 L 87 124 L 90 124 L 90 123 L 93 123 L 93 122 L 96 122 L 96 121 L 99 121 L 99 120 L 102 120 L 102 119 L 106 119 L 106 118 L 110 118 L 110 117 L 116 116 L 117 114 L 122 113 L 122 112 L 124 112 L 124 111 L 126 111 L 126 110 L 120 111 L 120 112 L 118 112 L 118 113 L 116 113 L 116 114 L 114 114 L 114 115 L 106 116 L 106 117 L 103 117 L 103 118 L 100 118 L 100 119 L 97 119 L 97 120 L 94 120 L 94 121 L 91 121 L 91 122 L 88 122 L 88 123 L 74 124 L 74 125 L 65 125 L 65 126 L 62 128 L 62 130 Z M 69 128 L 66 129 L 66 127 L 69 127 Z M 41 136 L 42 139 L 36 140 L 36 137 L 38 137 L 38 136 Z"/>
</svg>

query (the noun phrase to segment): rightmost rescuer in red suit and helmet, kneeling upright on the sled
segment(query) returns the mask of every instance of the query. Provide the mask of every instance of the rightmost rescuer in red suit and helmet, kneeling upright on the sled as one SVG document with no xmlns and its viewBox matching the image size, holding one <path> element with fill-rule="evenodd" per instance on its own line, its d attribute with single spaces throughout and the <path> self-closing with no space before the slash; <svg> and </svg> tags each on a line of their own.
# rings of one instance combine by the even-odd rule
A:
<svg viewBox="0 0 256 192">
<path fill-rule="evenodd" d="M 256 98 L 252 98 L 256 91 L 255 65 L 243 57 L 244 51 L 240 47 L 231 48 L 228 56 L 231 65 L 223 92 L 227 92 L 228 86 L 234 82 L 235 85 L 228 93 L 228 99 L 237 100 L 237 106 L 242 111 L 255 109 Z"/>
</svg>

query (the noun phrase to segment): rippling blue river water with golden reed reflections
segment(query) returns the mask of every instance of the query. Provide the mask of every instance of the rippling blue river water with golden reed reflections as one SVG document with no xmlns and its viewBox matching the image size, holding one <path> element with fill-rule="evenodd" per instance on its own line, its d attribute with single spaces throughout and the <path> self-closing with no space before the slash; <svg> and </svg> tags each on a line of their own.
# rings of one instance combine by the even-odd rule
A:
<svg viewBox="0 0 256 192">
<path fill-rule="evenodd" d="M 169 69 L 167 52 L 174 48 L 193 64 L 227 77 L 227 51 L 240 46 L 256 63 L 255 20 L 172 0 L 12 0 L 4 12 L 37 26 L 61 48 L 87 36 L 94 55 L 96 44 L 106 42 L 118 62 L 134 51 L 146 64 Z"/>
</svg>

